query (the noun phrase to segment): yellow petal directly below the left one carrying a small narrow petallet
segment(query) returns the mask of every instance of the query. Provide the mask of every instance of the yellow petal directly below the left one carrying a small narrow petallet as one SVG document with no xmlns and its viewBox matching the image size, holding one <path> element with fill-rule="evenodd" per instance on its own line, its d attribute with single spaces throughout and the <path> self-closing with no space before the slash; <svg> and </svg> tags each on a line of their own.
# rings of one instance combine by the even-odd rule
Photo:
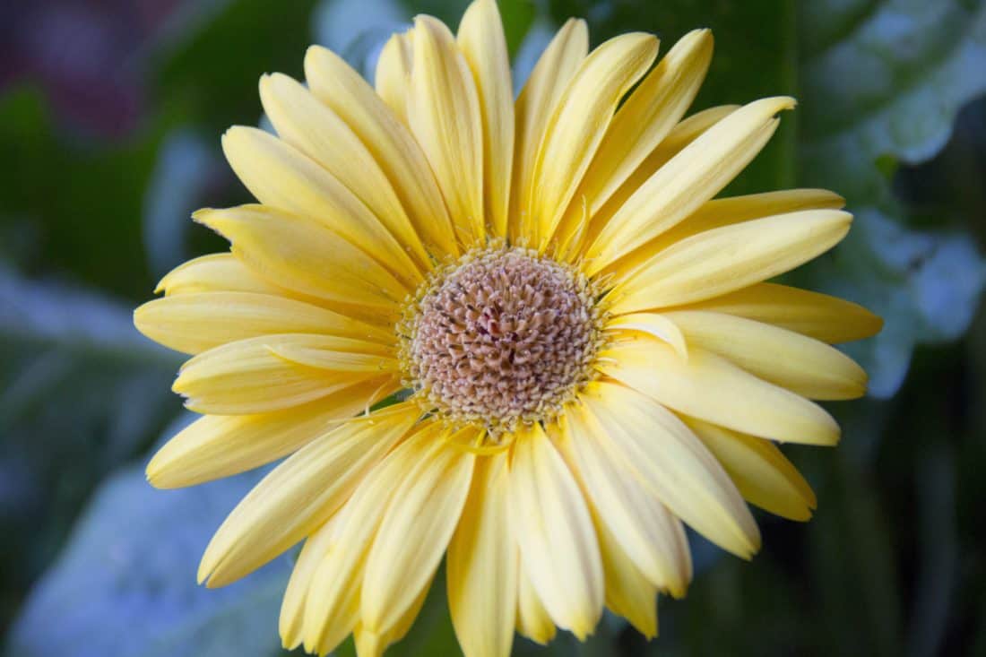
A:
<svg viewBox="0 0 986 657">
<path fill-rule="evenodd" d="M 399 387 L 394 377 L 371 380 L 279 412 L 200 417 L 158 450 L 147 479 L 158 488 L 179 488 L 252 470 L 300 449 Z"/>
</svg>

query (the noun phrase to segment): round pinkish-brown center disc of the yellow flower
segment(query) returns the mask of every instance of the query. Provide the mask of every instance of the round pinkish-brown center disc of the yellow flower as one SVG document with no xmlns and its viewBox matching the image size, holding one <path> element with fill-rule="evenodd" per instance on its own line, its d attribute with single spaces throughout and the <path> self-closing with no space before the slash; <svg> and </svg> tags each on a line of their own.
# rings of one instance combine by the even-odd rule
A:
<svg viewBox="0 0 986 657">
<path fill-rule="evenodd" d="M 494 440 L 553 416 L 593 378 L 601 313 L 573 267 L 520 248 L 464 255 L 409 304 L 408 385 L 428 409 Z"/>
</svg>

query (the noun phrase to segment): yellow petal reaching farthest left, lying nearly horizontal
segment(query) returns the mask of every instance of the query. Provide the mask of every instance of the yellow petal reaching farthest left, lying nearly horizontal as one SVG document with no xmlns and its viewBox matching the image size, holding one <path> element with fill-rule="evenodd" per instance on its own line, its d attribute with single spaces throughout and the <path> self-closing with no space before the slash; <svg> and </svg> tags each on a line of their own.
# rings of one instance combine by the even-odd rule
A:
<svg viewBox="0 0 986 657">
<path fill-rule="evenodd" d="M 140 332 L 195 354 L 271 333 L 322 333 L 392 343 L 392 332 L 311 304 L 253 292 L 200 292 L 150 301 L 133 314 Z"/>
</svg>

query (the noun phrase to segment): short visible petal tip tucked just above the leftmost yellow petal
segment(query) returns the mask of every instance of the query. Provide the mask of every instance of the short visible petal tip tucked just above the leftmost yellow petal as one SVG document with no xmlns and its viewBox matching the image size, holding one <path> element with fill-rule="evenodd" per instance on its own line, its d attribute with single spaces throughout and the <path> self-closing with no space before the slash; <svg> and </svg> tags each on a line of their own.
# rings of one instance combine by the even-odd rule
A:
<svg viewBox="0 0 986 657">
<path fill-rule="evenodd" d="M 255 292 L 280 295 L 284 291 L 265 281 L 233 254 L 211 254 L 182 262 L 161 279 L 155 293 L 168 296 L 199 292 Z"/>
</svg>

